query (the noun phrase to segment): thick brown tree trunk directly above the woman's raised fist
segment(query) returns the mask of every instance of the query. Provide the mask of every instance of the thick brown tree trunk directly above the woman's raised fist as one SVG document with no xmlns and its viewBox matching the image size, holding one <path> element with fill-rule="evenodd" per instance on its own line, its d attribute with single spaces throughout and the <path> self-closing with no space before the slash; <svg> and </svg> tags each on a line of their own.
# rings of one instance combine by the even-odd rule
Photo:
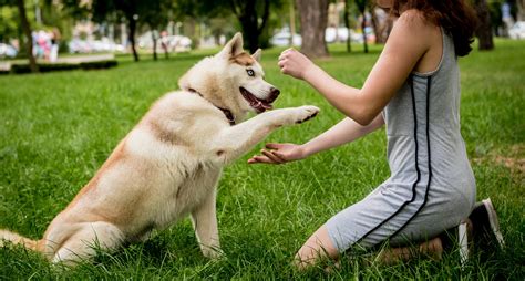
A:
<svg viewBox="0 0 525 281">
<path fill-rule="evenodd" d="M 328 56 L 325 30 L 328 23 L 328 0 L 296 0 L 301 20 L 301 52 L 310 59 Z"/>
</svg>

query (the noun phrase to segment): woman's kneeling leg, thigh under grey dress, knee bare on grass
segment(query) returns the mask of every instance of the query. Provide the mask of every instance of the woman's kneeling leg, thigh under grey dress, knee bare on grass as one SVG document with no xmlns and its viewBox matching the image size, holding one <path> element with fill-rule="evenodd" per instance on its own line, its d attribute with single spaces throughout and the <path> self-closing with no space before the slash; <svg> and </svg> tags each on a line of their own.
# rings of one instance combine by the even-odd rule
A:
<svg viewBox="0 0 525 281">
<path fill-rule="evenodd" d="M 447 199 L 443 200 L 444 197 Z M 415 200 L 406 204 L 406 198 Z M 453 214 L 443 217 L 443 210 Z M 351 247 L 371 249 L 388 239 L 392 244 L 405 244 L 430 238 L 418 247 L 385 250 L 378 261 L 406 260 L 413 257 L 411 253 L 440 259 L 443 246 L 440 239 L 432 238 L 460 223 L 470 210 L 463 197 L 451 197 L 449 190 L 382 185 L 320 227 L 297 252 L 296 266 L 303 269 L 322 258 L 337 259 Z"/>
</svg>

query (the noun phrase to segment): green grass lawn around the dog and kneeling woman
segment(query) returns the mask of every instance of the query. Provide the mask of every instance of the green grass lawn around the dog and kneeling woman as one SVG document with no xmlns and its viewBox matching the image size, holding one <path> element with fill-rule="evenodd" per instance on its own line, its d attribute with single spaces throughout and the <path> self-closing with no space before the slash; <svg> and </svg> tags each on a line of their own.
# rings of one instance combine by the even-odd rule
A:
<svg viewBox="0 0 525 281">
<path fill-rule="evenodd" d="M 332 46 L 320 65 L 360 86 L 378 58 Z M 357 49 L 354 49 L 357 50 Z M 277 131 L 268 142 L 302 143 L 342 118 L 306 83 L 281 75 L 279 50 L 264 54 L 270 83 L 281 90 L 277 107 L 313 104 L 321 114 Z M 0 228 L 41 238 L 94 175 L 117 142 L 162 94 L 205 53 L 133 63 L 116 69 L 0 76 Z M 162 56 L 161 56 L 162 58 Z M 525 277 L 523 159 L 525 42 L 497 41 L 493 52 L 461 59 L 462 133 L 477 179 L 477 198 L 491 197 L 507 248 L 487 262 L 416 259 L 369 264 L 346 256 L 342 269 L 295 272 L 291 258 L 328 218 L 360 200 L 389 176 L 384 131 L 300 163 L 249 166 L 253 153 L 225 169 L 217 212 L 225 258 L 202 257 L 189 221 L 157 232 L 142 244 L 101 253 L 72 270 L 50 266 L 19 247 L 0 248 L 0 279 L 514 279 Z"/>
</svg>

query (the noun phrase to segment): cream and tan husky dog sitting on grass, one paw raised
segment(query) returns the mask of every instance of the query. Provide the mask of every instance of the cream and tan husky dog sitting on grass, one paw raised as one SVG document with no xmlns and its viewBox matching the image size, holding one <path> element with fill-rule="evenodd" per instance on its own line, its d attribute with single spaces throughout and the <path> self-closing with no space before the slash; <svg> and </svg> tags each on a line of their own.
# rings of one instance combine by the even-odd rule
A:
<svg viewBox="0 0 525 281">
<path fill-rule="evenodd" d="M 319 108 L 265 112 L 279 90 L 264 80 L 260 50 L 243 51 L 237 33 L 216 55 L 194 65 L 181 91 L 161 97 L 121 140 L 95 176 L 48 227 L 41 240 L 0 230 L 2 239 L 74 264 L 143 241 L 191 215 L 203 254 L 220 253 L 216 186 L 225 165 L 275 128 L 301 123 Z M 240 123 L 248 112 L 259 115 Z"/>
</svg>

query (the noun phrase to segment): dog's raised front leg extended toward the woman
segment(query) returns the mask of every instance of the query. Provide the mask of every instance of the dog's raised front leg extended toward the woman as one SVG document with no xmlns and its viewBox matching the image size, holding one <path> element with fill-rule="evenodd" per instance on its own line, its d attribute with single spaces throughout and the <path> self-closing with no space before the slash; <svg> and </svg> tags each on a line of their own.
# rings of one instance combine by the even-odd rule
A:
<svg viewBox="0 0 525 281">
<path fill-rule="evenodd" d="M 220 162 L 229 164 L 248 153 L 274 129 L 302 123 L 316 116 L 318 112 L 318 107 L 306 105 L 261 113 L 238 125 L 224 128 L 215 138 L 212 153 Z"/>
</svg>

